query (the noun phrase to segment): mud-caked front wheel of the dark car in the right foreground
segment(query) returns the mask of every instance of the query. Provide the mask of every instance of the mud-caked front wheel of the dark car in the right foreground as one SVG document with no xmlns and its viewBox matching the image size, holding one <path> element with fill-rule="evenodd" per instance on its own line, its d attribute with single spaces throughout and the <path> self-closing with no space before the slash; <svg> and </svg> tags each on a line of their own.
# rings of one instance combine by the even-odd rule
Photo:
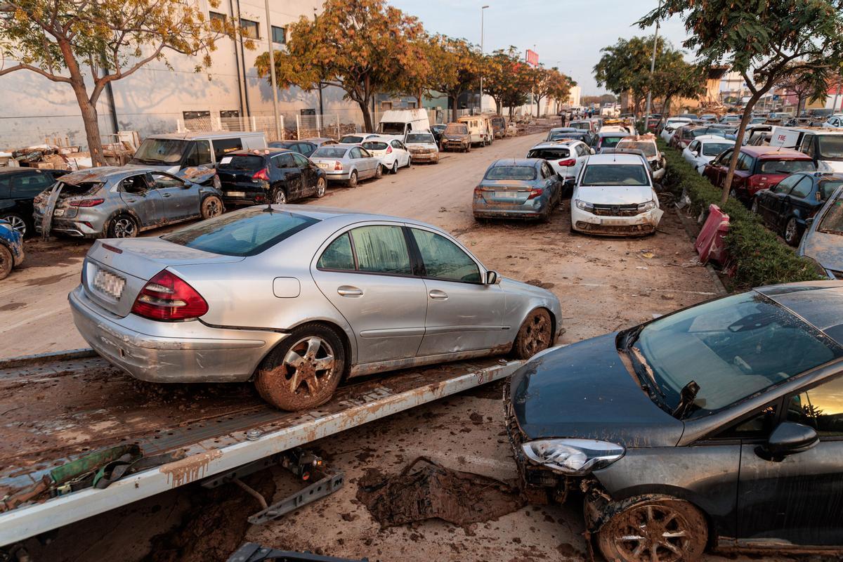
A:
<svg viewBox="0 0 843 562">
<path fill-rule="evenodd" d="M 708 528 L 701 512 L 684 500 L 646 500 L 609 519 L 597 536 L 607 560 L 679 562 L 698 559 Z"/>
</svg>

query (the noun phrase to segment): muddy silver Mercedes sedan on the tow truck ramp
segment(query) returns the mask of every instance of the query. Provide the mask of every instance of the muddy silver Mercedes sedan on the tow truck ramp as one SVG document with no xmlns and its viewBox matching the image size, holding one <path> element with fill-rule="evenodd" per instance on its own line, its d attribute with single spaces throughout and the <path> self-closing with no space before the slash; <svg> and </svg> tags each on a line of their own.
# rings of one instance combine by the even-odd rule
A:
<svg viewBox="0 0 843 562">
<path fill-rule="evenodd" d="M 561 333 L 552 293 L 404 218 L 252 206 L 160 238 L 97 240 L 69 295 L 89 345 L 157 383 L 255 380 L 281 409 L 342 377 L 511 352 Z"/>
</svg>

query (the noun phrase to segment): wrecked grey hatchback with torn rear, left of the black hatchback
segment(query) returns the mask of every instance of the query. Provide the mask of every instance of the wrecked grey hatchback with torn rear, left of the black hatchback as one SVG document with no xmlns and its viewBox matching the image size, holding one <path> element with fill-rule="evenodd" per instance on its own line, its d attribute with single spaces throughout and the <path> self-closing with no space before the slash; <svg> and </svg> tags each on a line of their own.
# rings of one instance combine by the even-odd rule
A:
<svg viewBox="0 0 843 562">
<path fill-rule="evenodd" d="M 83 238 L 134 238 L 224 210 L 222 193 L 211 185 L 158 169 L 114 166 L 63 175 L 33 206 L 37 232 Z"/>
</svg>

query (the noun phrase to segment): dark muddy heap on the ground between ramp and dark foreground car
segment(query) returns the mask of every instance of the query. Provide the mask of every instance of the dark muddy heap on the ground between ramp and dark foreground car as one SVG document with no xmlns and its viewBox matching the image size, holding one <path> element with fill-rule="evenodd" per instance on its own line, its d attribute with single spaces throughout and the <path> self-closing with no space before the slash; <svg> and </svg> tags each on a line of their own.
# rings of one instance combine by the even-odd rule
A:
<svg viewBox="0 0 843 562">
<path fill-rule="evenodd" d="M 426 519 L 466 527 L 497 519 L 527 504 L 516 486 L 480 474 L 444 468 L 419 457 L 394 476 L 369 468 L 358 482 L 357 500 L 381 527 Z"/>
</svg>

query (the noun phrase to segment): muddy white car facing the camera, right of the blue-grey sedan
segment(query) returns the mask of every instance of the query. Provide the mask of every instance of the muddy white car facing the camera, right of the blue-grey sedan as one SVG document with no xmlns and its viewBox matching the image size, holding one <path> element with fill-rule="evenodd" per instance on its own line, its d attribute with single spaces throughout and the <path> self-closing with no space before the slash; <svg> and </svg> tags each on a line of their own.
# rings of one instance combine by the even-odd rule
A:
<svg viewBox="0 0 843 562">
<path fill-rule="evenodd" d="M 571 198 L 571 232 L 608 236 L 655 233 L 663 211 L 646 158 L 612 150 L 588 156 L 583 164 Z"/>
</svg>

